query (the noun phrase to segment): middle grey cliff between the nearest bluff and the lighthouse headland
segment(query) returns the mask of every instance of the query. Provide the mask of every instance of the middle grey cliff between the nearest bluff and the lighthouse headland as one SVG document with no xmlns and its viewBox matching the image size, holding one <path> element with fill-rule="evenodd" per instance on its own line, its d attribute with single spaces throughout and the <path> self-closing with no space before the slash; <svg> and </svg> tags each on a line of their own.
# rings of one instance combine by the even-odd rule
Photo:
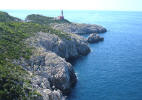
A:
<svg viewBox="0 0 142 100">
<path fill-rule="evenodd" d="M 36 41 L 38 46 L 42 46 L 48 51 L 55 52 L 58 56 L 65 59 L 86 55 L 90 52 L 87 40 L 75 34 L 71 34 L 70 39 L 66 39 L 39 32 L 32 40 Z"/>
</svg>

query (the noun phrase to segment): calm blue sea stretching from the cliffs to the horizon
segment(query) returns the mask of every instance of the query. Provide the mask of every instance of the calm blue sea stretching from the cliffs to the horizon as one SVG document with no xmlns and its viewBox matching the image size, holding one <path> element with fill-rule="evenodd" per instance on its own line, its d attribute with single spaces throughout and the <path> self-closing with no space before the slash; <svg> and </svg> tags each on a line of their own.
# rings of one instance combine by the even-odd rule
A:
<svg viewBox="0 0 142 100">
<path fill-rule="evenodd" d="M 6 10 L 24 19 L 59 11 Z M 100 24 L 104 41 L 90 44 L 91 53 L 73 62 L 78 82 L 69 100 L 142 100 L 142 12 L 64 11 L 73 22 Z"/>
</svg>

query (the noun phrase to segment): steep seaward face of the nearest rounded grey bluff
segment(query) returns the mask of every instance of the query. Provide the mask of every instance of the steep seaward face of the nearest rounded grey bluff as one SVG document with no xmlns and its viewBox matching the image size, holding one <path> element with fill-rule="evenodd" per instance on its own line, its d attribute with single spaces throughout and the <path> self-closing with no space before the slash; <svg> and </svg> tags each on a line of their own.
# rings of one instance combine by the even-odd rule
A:
<svg viewBox="0 0 142 100">
<path fill-rule="evenodd" d="M 51 85 L 64 93 L 69 92 L 72 85 L 76 83 L 76 75 L 72 65 L 55 53 L 46 55 L 45 64 L 51 67 L 50 72 L 48 72 L 51 75 L 49 78 Z"/>
</svg>

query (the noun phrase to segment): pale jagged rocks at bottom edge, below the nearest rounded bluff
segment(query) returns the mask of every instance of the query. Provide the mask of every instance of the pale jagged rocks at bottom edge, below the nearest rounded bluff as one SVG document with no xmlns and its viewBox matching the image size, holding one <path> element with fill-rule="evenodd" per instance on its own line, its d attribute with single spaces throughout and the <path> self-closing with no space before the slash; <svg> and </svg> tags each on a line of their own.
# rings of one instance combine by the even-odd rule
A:
<svg viewBox="0 0 142 100">
<path fill-rule="evenodd" d="M 59 89 L 51 89 L 50 83 L 44 76 L 36 75 L 32 79 L 34 89 L 41 94 L 35 96 L 35 100 L 65 100 L 62 92 Z"/>
</svg>

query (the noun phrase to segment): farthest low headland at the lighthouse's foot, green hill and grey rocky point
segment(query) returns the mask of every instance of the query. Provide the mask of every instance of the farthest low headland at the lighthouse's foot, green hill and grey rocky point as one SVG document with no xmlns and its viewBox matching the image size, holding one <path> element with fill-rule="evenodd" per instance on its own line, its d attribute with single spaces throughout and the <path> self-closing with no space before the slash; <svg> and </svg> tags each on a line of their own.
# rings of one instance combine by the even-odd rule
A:
<svg viewBox="0 0 142 100">
<path fill-rule="evenodd" d="M 47 17 L 38 14 L 28 15 L 25 19 L 26 22 L 34 22 L 42 25 L 50 25 L 52 28 L 61 30 L 66 33 L 75 34 L 91 34 L 91 33 L 104 33 L 106 28 L 95 24 L 79 24 L 72 23 L 66 19 L 56 20 L 54 17 Z"/>
</svg>

